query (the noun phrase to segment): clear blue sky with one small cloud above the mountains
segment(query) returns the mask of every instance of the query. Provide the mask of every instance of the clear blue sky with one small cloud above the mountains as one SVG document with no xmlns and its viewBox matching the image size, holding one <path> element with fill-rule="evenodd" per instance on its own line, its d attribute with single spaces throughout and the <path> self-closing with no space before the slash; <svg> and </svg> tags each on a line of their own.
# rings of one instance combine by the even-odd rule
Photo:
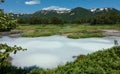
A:
<svg viewBox="0 0 120 74">
<path fill-rule="evenodd" d="M 4 9 L 6 13 L 33 13 L 50 7 L 66 9 L 112 7 L 120 10 L 120 0 L 5 0 L 5 3 L 0 3 L 0 9 Z"/>
</svg>

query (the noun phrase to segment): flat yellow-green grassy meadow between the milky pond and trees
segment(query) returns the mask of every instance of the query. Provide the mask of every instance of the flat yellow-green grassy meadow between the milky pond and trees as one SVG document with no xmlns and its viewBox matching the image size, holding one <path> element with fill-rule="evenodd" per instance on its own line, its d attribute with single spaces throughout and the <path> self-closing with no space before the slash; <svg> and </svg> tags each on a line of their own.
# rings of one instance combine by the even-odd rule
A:
<svg viewBox="0 0 120 74">
<path fill-rule="evenodd" d="M 120 25 L 89 25 L 89 24 L 64 24 L 64 25 L 29 25 L 22 24 L 16 30 L 25 31 L 23 37 L 41 37 L 63 35 L 68 38 L 104 37 L 104 30 L 120 30 Z"/>
</svg>

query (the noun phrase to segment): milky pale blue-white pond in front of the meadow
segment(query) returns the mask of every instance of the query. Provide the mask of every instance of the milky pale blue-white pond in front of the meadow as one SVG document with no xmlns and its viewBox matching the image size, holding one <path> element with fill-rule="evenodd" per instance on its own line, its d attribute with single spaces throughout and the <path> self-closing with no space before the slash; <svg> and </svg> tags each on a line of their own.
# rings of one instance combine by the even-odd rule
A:
<svg viewBox="0 0 120 74">
<path fill-rule="evenodd" d="M 10 46 L 17 45 L 27 48 L 11 54 L 11 61 L 17 67 L 38 66 L 40 68 L 55 68 L 60 64 L 74 61 L 73 56 L 88 54 L 103 48 L 114 46 L 114 40 L 120 44 L 120 37 L 69 39 L 64 36 L 48 36 L 35 38 L 0 38 L 0 43 Z"/>
</svg>

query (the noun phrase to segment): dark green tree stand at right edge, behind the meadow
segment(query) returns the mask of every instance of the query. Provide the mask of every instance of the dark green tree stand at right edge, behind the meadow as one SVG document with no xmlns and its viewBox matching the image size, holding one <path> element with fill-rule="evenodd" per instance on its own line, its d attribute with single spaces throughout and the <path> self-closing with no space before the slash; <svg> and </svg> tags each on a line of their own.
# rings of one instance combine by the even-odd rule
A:
<svg viewBox="0 0 120 74">
<path fill-rule="evenodd" d="M 120 24 L 120 13 L 108 12 L 90 19 L 91 24 Z"/>
</svg>

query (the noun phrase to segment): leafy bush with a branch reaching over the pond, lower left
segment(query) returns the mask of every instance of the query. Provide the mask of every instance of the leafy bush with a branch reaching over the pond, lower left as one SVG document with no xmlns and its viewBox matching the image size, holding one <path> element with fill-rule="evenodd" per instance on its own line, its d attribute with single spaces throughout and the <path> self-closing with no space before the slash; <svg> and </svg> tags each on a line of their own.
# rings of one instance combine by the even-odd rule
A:
<svg viewBox="0 0 120 74">
<path fill-rule="evenodd" d="M 23 49 L 18 46 L 8 46 L 7 44 L 0 44 L 0 73 L 1 74 L 26 74 L 26 71 L 17 68 L 11 65 L 10 61 L 12 60 L 12 57 L 10 57 L 11 53 L 16 54 L 18 51 L 24 51 L 26 49 Z"/>
</svg>

